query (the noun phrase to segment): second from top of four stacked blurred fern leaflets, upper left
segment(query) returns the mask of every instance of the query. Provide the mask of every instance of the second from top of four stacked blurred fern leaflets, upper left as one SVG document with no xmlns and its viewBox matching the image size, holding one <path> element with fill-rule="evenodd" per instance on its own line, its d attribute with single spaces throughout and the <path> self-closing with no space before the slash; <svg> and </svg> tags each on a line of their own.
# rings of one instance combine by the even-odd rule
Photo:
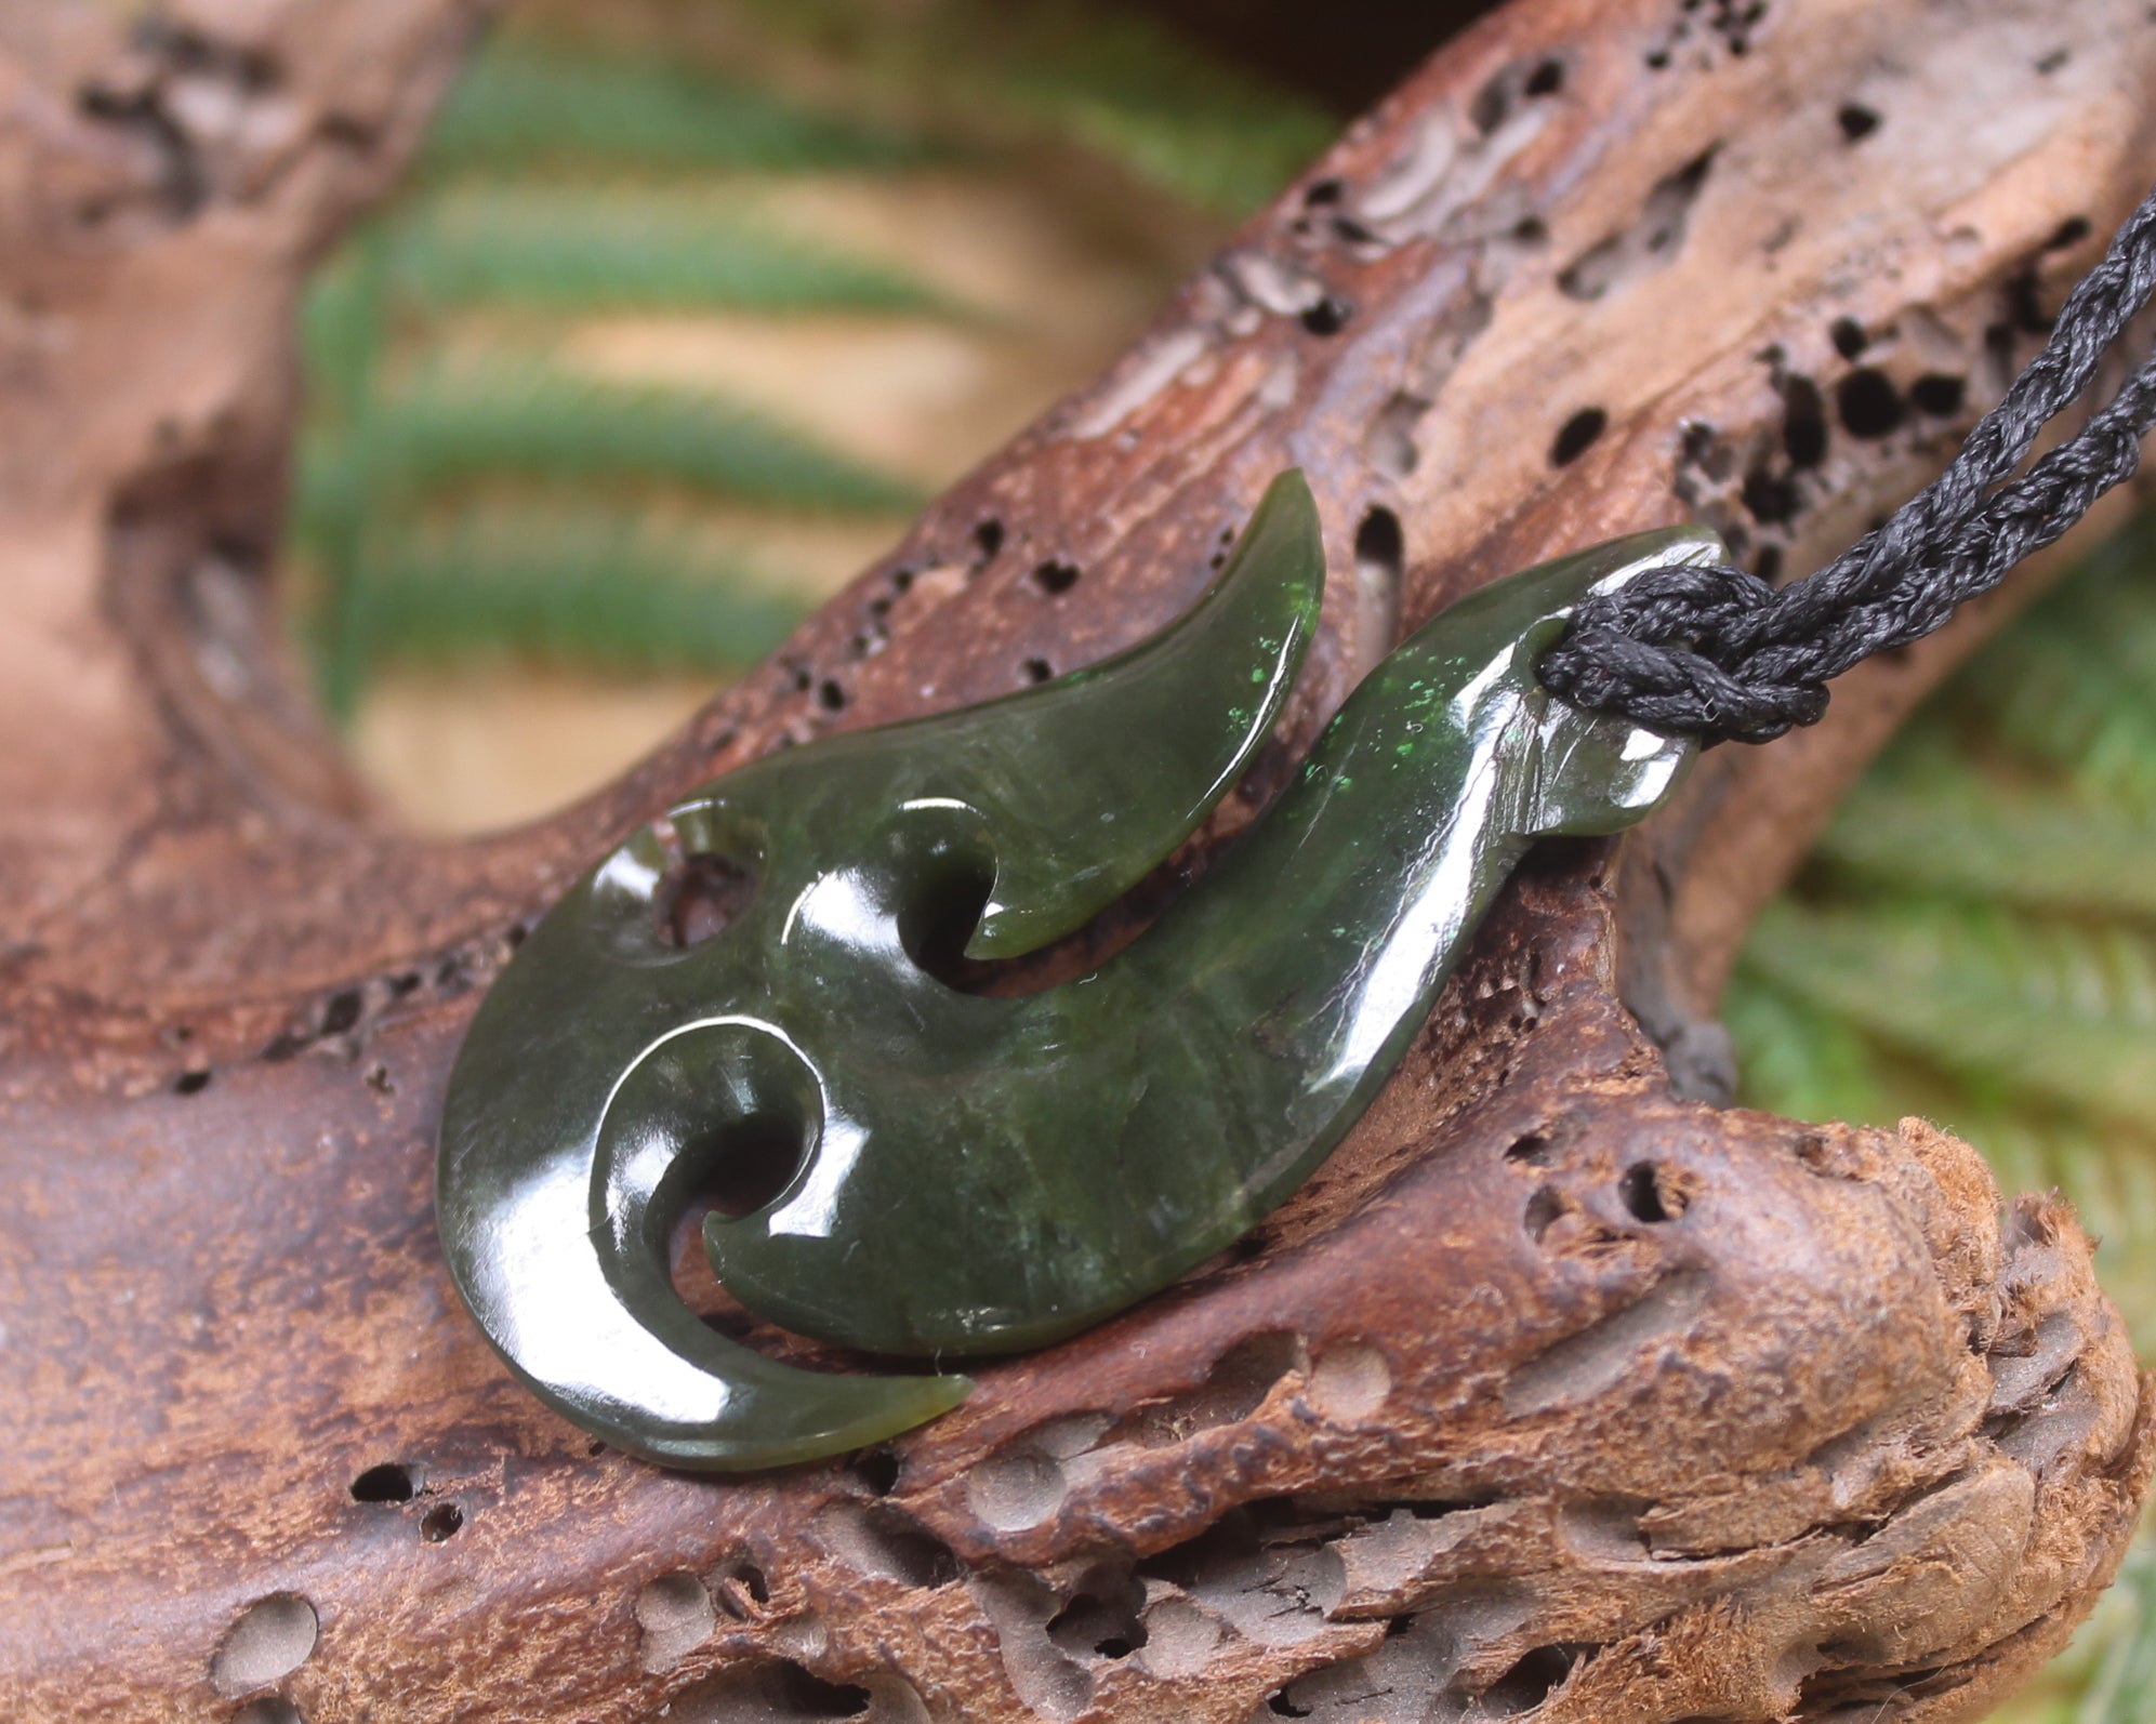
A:
<svg viewBox="0 0 2156 1724">
<path fill-rule="evenodd" d="M 401 218 L 390 278 L 429 312 L 953 312 L 914 276 L 772 233 L 709 198 L 517 185 L 448 194 Z"/>
</svg>

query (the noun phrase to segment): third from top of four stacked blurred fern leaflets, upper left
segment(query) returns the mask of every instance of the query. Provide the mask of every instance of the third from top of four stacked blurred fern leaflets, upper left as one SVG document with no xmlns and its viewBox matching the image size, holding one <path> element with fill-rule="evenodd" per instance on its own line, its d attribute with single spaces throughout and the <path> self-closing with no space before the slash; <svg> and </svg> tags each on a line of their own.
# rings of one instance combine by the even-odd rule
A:
<svg viewBox="0 0 2156 1724">
<path fill-rule="evenodd" d="M 748 407 L 524 358 L 433 366 L 386 394 L 354 440 L 362 470 L 407 493 L 500 474 L 526 485 L 679 485 L 800 513 L 921 504 L 906 481 Z"/>
</svg>

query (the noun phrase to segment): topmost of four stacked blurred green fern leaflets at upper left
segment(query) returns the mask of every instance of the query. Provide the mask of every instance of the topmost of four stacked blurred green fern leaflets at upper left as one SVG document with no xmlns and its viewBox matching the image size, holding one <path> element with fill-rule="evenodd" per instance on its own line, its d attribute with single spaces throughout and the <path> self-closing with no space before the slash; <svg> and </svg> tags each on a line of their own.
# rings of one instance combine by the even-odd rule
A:
<svg viewBox="0 0 2156 1724">
<path fill-rule="evenodd" d="M 925 149 L 699 71 L 679 58 L 505 34 L 448 93 L 427 136 L 431 175 L 573 168 L 645 172 L 897 168 Z"/>
</svg>

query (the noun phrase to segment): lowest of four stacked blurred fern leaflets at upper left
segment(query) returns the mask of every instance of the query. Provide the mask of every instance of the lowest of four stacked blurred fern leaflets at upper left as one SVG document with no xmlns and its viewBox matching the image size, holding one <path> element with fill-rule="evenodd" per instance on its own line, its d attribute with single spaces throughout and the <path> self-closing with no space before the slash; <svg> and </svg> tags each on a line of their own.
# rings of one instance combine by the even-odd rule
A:
<svg viewBox="0 0 2156 1724">
<path fill-rule="evenodd" d="M 740 672 L 806 606 L 737 558 L 608 509 L 485 511 L 371 547 L 354 616 L 369 664 L 483 653 L 608 672 Z"/>
</svg>

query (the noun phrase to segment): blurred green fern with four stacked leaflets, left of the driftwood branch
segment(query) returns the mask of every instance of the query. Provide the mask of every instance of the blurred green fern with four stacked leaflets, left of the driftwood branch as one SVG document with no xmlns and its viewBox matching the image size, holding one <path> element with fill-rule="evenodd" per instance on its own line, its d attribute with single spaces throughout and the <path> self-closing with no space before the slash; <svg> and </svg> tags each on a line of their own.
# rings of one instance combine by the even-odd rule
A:
<svg viewBox="0 0 2156 1724">
<path fill-rule="evenodd" d="M 802 603 L 746 558 L 638 532 L 640 502 L 668 489 L 897 522 L 918 489 L 711 392 L 576 375 L 550 349 L 621 310 L 955 315 L 899 269 L 757 228 L 724 179 L 714 190 L 714 175 L 921 153 L 649 54 L 492 43 L 444 106 L 420 185 L 347 241 L 304 308 L 293 547 L 330 711 L 349 715 L 392 659 L 727 672 L 768 653 Z"/>
</svg>

